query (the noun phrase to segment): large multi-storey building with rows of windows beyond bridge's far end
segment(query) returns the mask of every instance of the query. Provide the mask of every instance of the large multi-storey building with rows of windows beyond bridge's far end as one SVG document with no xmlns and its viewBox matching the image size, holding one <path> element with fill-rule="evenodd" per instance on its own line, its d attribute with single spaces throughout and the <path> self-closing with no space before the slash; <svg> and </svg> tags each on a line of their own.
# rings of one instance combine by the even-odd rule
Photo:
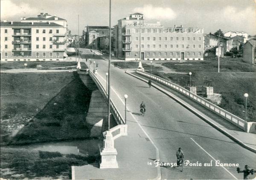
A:
<svg viewBox="0 0 256 180">
<path fill-rule="evenodd" d="M 125 60 L 203 60 L 204 30 L 164 28 L 160 21 L 145 23 L 143 14 L 134 13 L 114 26 L 116 55 Z"/>
</svg>

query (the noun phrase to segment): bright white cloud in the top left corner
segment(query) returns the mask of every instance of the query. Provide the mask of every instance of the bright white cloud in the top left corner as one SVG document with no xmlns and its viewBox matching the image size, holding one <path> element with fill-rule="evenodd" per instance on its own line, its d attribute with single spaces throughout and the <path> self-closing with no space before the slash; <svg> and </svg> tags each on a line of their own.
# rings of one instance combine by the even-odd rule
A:
<svg viewBox="0 0 256 180">
<path fill-rule="evenodd" d="M 35 14 L 38 12 L 38 9 L 35 7 L 30 7 L 29 4 L 24 3 L 23 1 L 15 1 L 20 3 L 17 5 L 14 1 L 11 0 L 1 0 L 1 19 L 2 18 L 10 18 L 10 17 L 17 17 L 17 16 L 26 16 Z"/>
</svg>

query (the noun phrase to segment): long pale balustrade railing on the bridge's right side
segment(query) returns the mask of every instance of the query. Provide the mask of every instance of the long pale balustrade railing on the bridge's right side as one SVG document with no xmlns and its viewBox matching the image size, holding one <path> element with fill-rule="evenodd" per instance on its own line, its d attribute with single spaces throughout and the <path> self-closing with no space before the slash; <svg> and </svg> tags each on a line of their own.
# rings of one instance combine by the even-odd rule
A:
<svg viewBox="0 0 256 180">
<path fill-rule="evenodd" d="M 211 110 L 212 112 L 214 112 L 215 114 L 218 114 L 219 116 L 223 117 L 224 119 L 226 119 L 227 121 L 231 122 L 232 124 L 236 125 L 238 128 L 247 131 L 247 122 L 245 122 L 243 119 L 235 116 L 234 114 L 222 109 L 221 107 L 218 107 L 216 105 L 214 105 L 213 103 L 207 101 L 206 99 L 191 93 L 189 90 L 186 90 L 184 87 L 181 87 L 171 81 L 167 81 L 164 78 L 160 78 L 157 75 L 152 75 L 150 73 L 146 73 L 140 70 L 136 70 L 136 73 L 146 76 L 148 78 L 151 78 L 157 82 L 160 82 L 161 84 L 164 84 L 167 87 L 170 87 L 180 93 L 182 93 L 183 95 L 189 97 L 190 99 L 193 99 L 195 102 L 197 102 L 198 104 L 206 107 L 207 109 Z"/>
</svg>

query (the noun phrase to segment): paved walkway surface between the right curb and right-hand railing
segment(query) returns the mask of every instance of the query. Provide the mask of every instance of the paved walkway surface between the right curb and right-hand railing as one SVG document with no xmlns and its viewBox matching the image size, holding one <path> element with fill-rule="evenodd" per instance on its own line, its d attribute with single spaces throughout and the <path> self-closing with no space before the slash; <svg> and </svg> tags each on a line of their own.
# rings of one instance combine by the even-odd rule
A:
<svg viewBox="0 0 256 180">
<path fill-rule="evenodd" d="M 148 78 L 146 78 L 142 75 L 138 75 L 134 71 L 128 71 L 127 73 L 131 73 L 132 75 L 136 76 L 137 78 L 142 78 L 142 79 L 145 79 L 146 81 L 148 81 Z M 251 148 L 254 148 L 256 150 L 256 134 L 246 133 L 246 132 L 242 131 L 240 128 L 231 124 L 227 120 L 221 118 L 220 116 L 213 113 L 212 111 L 207 110 L 206 108 L 199 105 L 192 99 L 188 99 L 183 94 L 181 94 L 169 87 L 166 87 L 157 81 L 152 80 L 152 85 L 154 87 L 157 87 L 158 89 L 161 89 L 165 93 L 169 93 L 170 96 L 172 96 L 174 99 L 177 99 L 178 101 L 180 101 L 183 105 L 185 105 L 189 109 L 197 111 L 198 114 L 200 114 L 201 116 L 204 116 L 205 119 L 207 119 L 207 121 L 217 125 L 221 131 L 225 131 L 228 134 L 232 134 L 232 136 L 234 138 L 239 139 L 239 141 L 241 141 L 245 145 L 247 145 Z"/>
</svg>

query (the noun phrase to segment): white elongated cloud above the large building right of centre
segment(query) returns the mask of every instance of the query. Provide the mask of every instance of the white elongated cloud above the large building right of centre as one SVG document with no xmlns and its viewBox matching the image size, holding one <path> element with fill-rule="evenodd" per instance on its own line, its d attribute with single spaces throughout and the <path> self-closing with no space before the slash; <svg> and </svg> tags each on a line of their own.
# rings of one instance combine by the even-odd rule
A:
<svg viewBox="0 0 256 180">
<path fill-rule="evenodd" d="M 171 8 L 154 7 L 151 4 L 134 8 L 133 12 L 142 13 L 145 19 L 172 20 L 177 16 Z"/>
</svg>

